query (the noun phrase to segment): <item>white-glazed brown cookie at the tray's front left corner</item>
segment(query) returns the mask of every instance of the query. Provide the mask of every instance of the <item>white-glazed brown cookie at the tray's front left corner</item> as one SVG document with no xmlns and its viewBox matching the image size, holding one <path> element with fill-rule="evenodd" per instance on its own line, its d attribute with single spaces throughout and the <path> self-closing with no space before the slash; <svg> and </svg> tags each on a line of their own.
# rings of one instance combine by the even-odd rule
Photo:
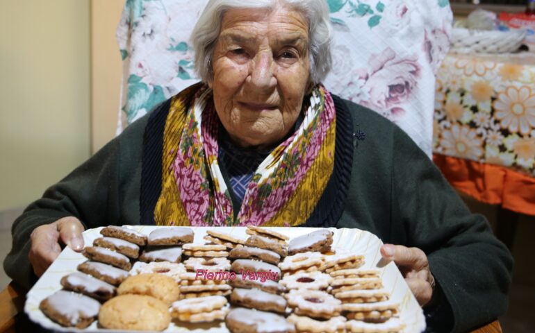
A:
<svg viewBox="0 0 535 333">
<path fill-rule="evenodd" d="M 39 309 L 62 326 L 82 329 L 91 325 L 97 318 L 100 303 L 81 293 L 60 290 L 44 298 Z"/>
</svg>

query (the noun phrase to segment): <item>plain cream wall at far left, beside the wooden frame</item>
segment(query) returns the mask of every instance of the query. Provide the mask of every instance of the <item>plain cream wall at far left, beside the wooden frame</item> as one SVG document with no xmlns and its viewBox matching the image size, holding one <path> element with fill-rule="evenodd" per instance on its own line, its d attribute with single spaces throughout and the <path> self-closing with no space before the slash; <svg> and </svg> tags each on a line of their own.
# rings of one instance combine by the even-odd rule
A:
<svg viewBox="0 0 535 333">
<path fill-rule="evenodd" d="M 0 2 L 0 210 L 90 155 L 89 0 Z"/>
</svg>

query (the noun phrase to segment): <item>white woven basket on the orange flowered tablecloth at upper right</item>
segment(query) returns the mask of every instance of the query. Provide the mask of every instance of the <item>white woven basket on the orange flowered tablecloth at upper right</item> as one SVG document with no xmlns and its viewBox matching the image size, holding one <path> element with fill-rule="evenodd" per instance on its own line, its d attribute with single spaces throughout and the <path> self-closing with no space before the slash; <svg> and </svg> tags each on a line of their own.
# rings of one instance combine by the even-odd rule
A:
<svg viewBox="0 0 535 333">
<path fill-rule="evenodd" d="M 517 51 L 527 31 L 477 31 L 453 28 L 451 51 L 456 53 L 509 53 Z"/>
</svg>

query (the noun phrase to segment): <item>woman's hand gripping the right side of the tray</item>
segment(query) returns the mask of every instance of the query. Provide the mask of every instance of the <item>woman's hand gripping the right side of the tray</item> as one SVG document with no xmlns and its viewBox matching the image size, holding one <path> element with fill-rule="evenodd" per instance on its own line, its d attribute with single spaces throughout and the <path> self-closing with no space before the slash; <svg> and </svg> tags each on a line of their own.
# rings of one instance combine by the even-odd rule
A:
<svg viewBox="0 0 535 333">
<path fill-rule="evenodd" d="M 385 244 L 381 246 L 381 255 L 384 259 L 395 262 L 420 306 L 426 305 L 433 296 L 435 278 L 429 271 L 429 262 L 424 251 L 419 248 Z"/>
</svg>

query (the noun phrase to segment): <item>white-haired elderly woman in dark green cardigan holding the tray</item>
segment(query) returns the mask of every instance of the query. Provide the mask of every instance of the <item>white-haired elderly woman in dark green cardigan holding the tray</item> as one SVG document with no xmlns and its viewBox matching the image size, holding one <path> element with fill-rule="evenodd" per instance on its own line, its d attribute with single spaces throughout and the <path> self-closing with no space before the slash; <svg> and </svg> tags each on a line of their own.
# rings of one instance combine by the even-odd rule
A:
<svg viewBox="0 0 535 333">
<path fill-rule="evenodd" d="M 361 228 L 388 243 L 432 328 L 503 314 L 509 252 L 402 130 L 321 85 L 331 35 L 323 0 L 210 1 L 192 35 L 202 82 L 31 204 L 8 274 L 30 287 L 100 225 Z"/>
</svg>

